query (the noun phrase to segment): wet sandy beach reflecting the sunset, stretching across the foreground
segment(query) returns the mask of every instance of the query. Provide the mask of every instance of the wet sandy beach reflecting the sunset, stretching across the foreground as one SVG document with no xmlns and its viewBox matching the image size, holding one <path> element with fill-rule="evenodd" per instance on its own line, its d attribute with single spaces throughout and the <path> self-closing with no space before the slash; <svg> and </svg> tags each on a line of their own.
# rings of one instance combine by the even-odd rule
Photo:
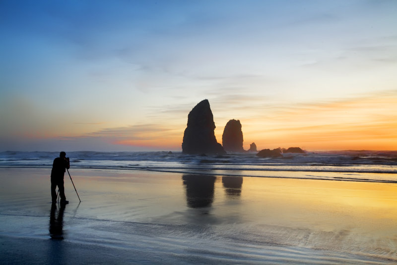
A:
<svg viewBox="0 0 397 265">
<path fill-rule="evenodd" d="M 0 169 L 2 264 L 397 263 L 393 183 L 50 171 Z"/>
</svg>

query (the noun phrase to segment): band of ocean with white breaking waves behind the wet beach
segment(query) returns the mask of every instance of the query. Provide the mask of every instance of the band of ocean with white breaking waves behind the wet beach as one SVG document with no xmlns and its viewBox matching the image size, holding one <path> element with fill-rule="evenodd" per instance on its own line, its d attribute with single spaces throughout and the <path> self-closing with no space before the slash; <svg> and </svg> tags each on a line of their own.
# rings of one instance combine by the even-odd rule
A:
<svg viewBox="0 0 397 265">
<path fill-rule="evenodd" d="M 328 151 L 261 158 L 182 152 L 67 152 L 71 169 L 158 171 L 239 177 L 277 177 L 397 183 L 397 151 Z M 51 168 L 59 152 L 0 153 L 1 168 Z M 332 174 L 330 174 L 332 173 Z"/>
</svg>

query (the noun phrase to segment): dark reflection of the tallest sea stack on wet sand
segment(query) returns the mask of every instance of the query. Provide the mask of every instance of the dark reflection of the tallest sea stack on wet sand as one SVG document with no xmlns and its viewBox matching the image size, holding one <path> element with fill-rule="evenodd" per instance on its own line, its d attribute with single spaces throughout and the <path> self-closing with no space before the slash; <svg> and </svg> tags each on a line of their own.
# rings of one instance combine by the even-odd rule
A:
<svg viewBox="0 0 397 265">
<path fill-rule="evenodd" d="M 184 175 L 186 200 L 191 208 L 210 207 L 214 199 L 215 176 Z"/>
</svg>

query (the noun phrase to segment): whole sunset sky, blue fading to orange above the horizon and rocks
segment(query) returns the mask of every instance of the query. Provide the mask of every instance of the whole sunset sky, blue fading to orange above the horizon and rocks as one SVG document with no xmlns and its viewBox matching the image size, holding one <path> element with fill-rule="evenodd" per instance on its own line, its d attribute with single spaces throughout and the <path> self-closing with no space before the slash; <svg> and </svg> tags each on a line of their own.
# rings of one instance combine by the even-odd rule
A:
<svg viewBox="0 0 397 265">
<path fill-rule="evenodd" d="M 397 150 L 395 0 L 1 0 L 0 151 Z"/>
</svg>

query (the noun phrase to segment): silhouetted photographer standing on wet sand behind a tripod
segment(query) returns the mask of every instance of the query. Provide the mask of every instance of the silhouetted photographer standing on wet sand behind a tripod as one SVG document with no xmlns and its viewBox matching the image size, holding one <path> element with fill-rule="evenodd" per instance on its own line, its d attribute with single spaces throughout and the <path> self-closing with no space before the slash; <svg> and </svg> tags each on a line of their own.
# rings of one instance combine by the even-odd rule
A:
<svg viewBox="0 0 397 265">
<path fill-rule="evenodd" d="M 53 203 L 57 202 L 57 192 L 55 190 L 57 186 L 61 196 L 61 204 L 69 203 L 69 201 L 66 200 L 64 187 L 64 175 L 66 169 L 69 168 L 69 158 L 66 157 L 65 152 L 61 152 L 59 157 L 54 159 L 53 169 L 51 170 L 51 198 Z"/>
</svg>

